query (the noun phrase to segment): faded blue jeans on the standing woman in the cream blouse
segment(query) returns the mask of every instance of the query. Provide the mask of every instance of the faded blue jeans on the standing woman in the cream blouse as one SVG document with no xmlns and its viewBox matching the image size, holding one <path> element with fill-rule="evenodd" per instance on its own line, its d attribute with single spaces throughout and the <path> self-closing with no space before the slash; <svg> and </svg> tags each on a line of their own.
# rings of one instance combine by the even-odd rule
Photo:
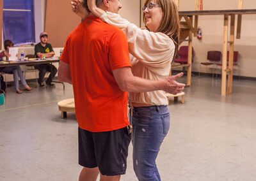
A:
<svg viewBox="0 0 256 181">
<path fill-rule="evenodd" d="M 133 169 L 140 181 L 160 181 L 156 157 L 170 128 L 168 106 L 133 108 Z"/>
</svg>

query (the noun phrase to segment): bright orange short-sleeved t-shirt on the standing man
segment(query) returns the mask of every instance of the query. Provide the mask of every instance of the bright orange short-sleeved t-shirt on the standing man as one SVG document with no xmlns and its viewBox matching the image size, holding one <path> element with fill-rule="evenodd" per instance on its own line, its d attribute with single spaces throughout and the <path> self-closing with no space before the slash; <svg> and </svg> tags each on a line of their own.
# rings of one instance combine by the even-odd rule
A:
<svg viewBox="0 0 256 181">
<path fill-rule="evenodd" d="M 124 33 L 100 18 L 88 17 L 68 36 L 61 61 L 70 65 L 76 118 L 81 129 L 113 131 L 129 125 L 127 92 L 113 70 L 131 67 Z"/>
</svg>

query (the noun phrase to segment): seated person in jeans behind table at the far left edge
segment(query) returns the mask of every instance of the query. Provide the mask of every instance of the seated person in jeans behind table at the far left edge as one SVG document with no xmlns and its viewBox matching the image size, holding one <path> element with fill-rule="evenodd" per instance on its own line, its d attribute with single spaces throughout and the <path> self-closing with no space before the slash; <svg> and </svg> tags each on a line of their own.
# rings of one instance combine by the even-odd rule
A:
<svg viewBox="0 0 256 181">
<path fill-rule="evenodd" d="M 0 59 L 2 59 L 3 57 L 6 57 L 6 59 L 8 59 L 8 57 L 10 57 L 9 55 L 9 48 L 13 47 L 13 43 L 11 40 L 5 40 L 4 41 L 4 51 L 0 53 Z M 13 74 L 13 81 L 14 81 L 14 85 L 15 85 L 15 90 L 17 94 L 22 94 L 22 91 L 20 91 L 20 87 L 19 87 L 19 78 L 20 81 L 22 83 L 22 85 L 24 86 L 26 91 L 31 91 L 32 88 L 29 87 L 28 83 L 26 82 L 22 70 L 20 69 L 20 66 L 11 66 L 11 67 L 6 67 L 3 69 L 4 73 L 10 73 Z"/>
</svg>

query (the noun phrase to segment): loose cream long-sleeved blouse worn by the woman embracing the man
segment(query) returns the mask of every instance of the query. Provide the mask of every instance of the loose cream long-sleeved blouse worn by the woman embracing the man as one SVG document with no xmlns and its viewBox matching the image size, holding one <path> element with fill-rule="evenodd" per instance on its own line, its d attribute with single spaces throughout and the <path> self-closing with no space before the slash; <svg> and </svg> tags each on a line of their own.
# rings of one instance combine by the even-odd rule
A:
<svg viewBox="0 0 256 181">
<path fill-rule="evenodd" d="M 159 80 L 169 75 L 175 52 L 175 44 L 171 38 L 163 33 L 140 29 L 116 13 L 107 11 L 100 18 L 104 22 L 122 29 L 126 35 L 134 76 Z M 131 103 L 168 105 L 164 91 L 130 92 L 129 99 Z"/>
</svg>

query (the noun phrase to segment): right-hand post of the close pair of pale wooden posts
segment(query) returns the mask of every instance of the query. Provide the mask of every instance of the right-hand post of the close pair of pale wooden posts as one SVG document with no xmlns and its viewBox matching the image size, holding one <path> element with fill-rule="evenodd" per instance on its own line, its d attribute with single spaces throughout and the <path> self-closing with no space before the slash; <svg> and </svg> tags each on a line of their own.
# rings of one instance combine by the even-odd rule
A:
<svg viewBox="0 0 256 181">
<path fill-rule="evenodd" d="M 230 20 L 230 45 L 228 58 L 228 94 L 232 94 L 233 66 L 234 66 L 234 41 L 235 41 L 235 15 L 231 15 Z"/>
</svg>

